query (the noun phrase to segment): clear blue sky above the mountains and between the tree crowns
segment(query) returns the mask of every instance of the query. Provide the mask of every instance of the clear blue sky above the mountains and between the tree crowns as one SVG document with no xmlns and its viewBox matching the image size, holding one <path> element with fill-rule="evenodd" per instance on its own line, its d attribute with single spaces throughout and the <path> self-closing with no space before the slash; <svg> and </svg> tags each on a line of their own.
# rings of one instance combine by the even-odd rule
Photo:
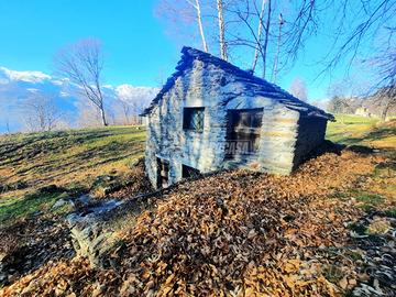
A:
<svg viewBox="0 0 396 297">
<path fill-rule="evenodd" d="M 0 66 L 51 74 L 57 50 L 80 38 L 97 37 L 103 43 L 106 84 L 158 87 L 174 72 L 180 48 L 155 16 L 156 2 L 0 0 Z M 307 81 L 310 100 L 327 97 L 329 78 L 314 79 L 323 67 L 316 61 L 330 44 L 326 34 L 311 38 L 296 66 L 283 74 L 279 85 L 288 89 L 299 76 Z M 342 78 L 343 74 L 340 67 L 333 78 Z"/>
</svg>

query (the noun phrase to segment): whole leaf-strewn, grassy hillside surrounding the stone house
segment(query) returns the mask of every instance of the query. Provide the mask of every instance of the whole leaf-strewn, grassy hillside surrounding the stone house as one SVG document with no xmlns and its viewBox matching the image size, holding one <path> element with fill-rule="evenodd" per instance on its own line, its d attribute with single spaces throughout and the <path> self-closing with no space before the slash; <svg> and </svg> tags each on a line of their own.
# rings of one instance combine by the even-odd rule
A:
<svg viewBox="0 0 396 297">
<path fill-rule="evenodd" d="M 392 296 L 396 124 L 338 120 L 328 139 L 352 146 L 330 146 L 292 176 L 220 173 L 113 218 L 116 244 L 101 268 L 75 256 L 64 222 L 75 209 L 53 207 L 87 191 L 127 200 L 150 191 L 138 162 L 144 131 L 0 139 L 0 253 L 11 267 L 1 293 Z M 109 193 L 106 176 L 117 185 Z"/>
</svg>

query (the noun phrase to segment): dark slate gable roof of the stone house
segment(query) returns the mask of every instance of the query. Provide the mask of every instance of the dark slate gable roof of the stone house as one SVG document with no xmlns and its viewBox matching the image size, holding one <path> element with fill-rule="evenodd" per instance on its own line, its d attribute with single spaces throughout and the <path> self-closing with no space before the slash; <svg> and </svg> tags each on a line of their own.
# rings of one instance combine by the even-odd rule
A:
<svg viewBox="0 0 396 297">
<path fill-rule="evenodd" d="M 308 116 L 322 117 L 328 120 L 334 120 L 334 117 L 330 113 L 324 112 L 323 110 L 308 105 L 283 90 L 278 86 L 266 81 L 260 77 L 252 75 L 250 72 L 242 70 L 241 68 L 228 63 L 219 57 L 210 55 L 208 53 L 198 51 L 191 47 L 183 47 L 182 50 L 182 59 L 178 62 L 176 66 L 176 72 L 167 79 L 164 87 L 157 94 L 157 96 L 153 99 L 150 107 L 146 108 L 141 116 L 146 116 L 151 112 L 151 110 L 158 103 L 161 98 L 175 85 L 176 79 L 179 76 L 183 76 L 186 69 L 193 67 L 193 63 L 195 59 L 199 59 L 201 62 L 212 64 L 223 69 L 224 72 L 233 75 L 237 80 L 245 84 L 249 87 L 249 90 L 254 95 L 260 95 L 263 97 L 268 97 L 277 100 L 279 103 L 283 103 L 285 107 L 304 112 Z"/>
</svg>

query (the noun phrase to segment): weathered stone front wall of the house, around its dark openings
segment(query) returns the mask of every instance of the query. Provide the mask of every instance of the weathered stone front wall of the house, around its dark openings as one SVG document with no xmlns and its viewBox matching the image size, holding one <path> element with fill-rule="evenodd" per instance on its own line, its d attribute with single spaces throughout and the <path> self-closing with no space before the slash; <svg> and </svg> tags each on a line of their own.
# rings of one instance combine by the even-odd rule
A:
<svg viewBox="0 0 396 297">
<path fill-rule="evenodd" d="M 185 131 L 185 107 L 205 107 L 204 131 Z M 224 162 L 227 111 L 263 108 L 260 147 L 246 160 Z M 230 163 L 270 173 L 289 174 L 294 165 L 299 112 L 254 90 L 221 68 L 195 59 L 148 114 L 145 165 L 157 185 L 156 158 L 169 161 L 169 184 L 182 179 L 182 165 L 209 173 Z M 231 164 L 232 165 L 232 164 Z"/>
</svg>

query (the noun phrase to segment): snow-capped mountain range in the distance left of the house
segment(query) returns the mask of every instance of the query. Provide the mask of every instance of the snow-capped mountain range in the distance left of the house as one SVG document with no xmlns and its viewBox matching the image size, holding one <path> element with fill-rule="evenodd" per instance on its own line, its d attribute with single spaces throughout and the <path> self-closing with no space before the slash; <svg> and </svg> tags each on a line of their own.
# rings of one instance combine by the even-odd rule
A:
<svg viewBox="0 0 396 297">
<path fill-rule="evenodd" d="M 158 89 L 107 85 L 102 91 L 106 96 L 109 120 L 117 121 L 122 113 L 122 102 L 128 103 L 129 112 L 140 112 L 155 97 Z M 15 72 L 0 67 L 0 133 L 8 130 L 24 130 L 26 102 L 35 100 L 37 95 L 51 98 L 57 111 L 63 114 L 64 124 L 70 128 L 80 125 L 79 120 L 87 117 L 87 110 L 95 113 L 87 100 L 78 96 L 78 88 L 67 79 L 41 72 Z"/>
</svg>

